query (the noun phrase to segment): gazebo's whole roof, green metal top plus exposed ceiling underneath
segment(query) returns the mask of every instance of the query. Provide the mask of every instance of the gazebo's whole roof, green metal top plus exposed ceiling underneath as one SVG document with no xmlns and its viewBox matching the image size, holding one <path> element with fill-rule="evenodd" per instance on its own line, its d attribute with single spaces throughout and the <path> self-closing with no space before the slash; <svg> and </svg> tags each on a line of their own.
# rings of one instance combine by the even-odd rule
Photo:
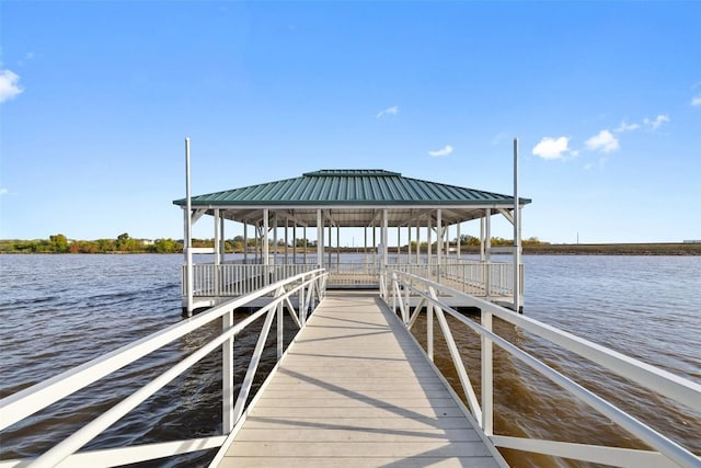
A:
<svg viewBox="0 0 701 468">
<path fill-rule="evenodd" d="M 531 201 L 519 198 L 519 204 Z M 186 199 L 173 202 L 181 207 Z M 315 226 L 317 209 L 323 224 L 340 227 L 379 226 L 387 209 L 388 226 L 435 222 L 440 208 L 444 224 L 485 216 L 485 208 L 510 212 L 514 197 L 492 192 L 404 178 L 376 169 L 321 170 L 299 178 L 193 196 L 192 208 L 226 219 L 260 224 L 264 209 L 278 225 Z"/>
</svg>

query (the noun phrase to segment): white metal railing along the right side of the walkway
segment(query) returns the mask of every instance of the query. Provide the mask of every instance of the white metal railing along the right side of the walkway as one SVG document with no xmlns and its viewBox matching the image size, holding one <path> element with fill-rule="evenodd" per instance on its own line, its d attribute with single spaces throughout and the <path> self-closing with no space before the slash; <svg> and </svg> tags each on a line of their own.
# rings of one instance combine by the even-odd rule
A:
<svg viewBox="0 0 701 468">
<path fill-rule="evenodd" d="M 459 296 L 466 306 L 481 310 L 481 324 L 476 323 L 440 300 L 440 293 Z M 456 366 L 458 377 L 475 420 L 497 447 L 524 452 L 573 458 L 589 463 L 606 464 L 620 467 L 700 467 L 701 458 L 678 443 L 636 420 L 623 410 L 606 401 L 602 397 L 584 388 L 568 377 L 544 364 L 542 361 L 508 342 L 492 331 L 492 318 L 499 319 L 527 330 L 550 343 L 568 350 L 593 363 L 606 367 L 618 376 L 630 379 L 646 390 L 658 392 L 667 398 L 701 411 L 701 385 L 675 376 L 632 357 L 625 356 L 605 346 L 578 338 L 574 334 L 541 323 L 531 318 L 515 313 L 493 303 L 467 295 L 445 285 L 425 279 L 421 276 L 400 271 L 387 271 L 380 277 L 380 294 L 389 307 L 397 310 L 411 329 L 422 311 L 426 313 L 426 354 L 434 358 L 434 320 L 438 321 L 450 357 Z M 410 297 L 418 303 L 410 313 Z M 464 368 L 460 351 L 452 339 L 446 315 L 452 316 L 481 336 L 481 401 L 478 400 L 470 377 Z M 434 319 L 435 318 L 435 319 Z M 599 411 L 631 434 L 639 437 L 653 450 L 637 450 L 589 444 L 543 441 L 525 437 L 495 435 L 493 430 L 493 345 L 497 345 L 522 363 L 536 369 L 589 407 Z M 655 452 L 656 450 L 656 452 Z"/>
</svg>

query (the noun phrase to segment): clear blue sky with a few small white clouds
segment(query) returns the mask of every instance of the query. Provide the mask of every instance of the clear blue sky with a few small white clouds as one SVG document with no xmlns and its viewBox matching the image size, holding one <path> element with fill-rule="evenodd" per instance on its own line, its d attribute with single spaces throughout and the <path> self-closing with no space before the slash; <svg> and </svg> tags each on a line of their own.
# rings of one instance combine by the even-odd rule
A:
<svg viewBox="0 0 701 468">
<path fill-rule="evenodd" d="M 0 239 L 181 238 L 185 136 L 194 194 L 329 168 L 509 194 L 518 137 L 525 238 L 701 239 L 700 18 L 692 1 L 2 1 Z"/>
</svg>

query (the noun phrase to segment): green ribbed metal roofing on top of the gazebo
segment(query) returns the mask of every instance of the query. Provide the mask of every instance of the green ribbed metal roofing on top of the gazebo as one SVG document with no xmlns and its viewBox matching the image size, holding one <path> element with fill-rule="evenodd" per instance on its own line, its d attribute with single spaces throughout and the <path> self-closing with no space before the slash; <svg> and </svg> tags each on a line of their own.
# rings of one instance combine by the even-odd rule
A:
<svg viewBox="0 0 701 468">
<path fill-rule="evenodd" d="M 519 198 L 528 204 L 528 198 Z M 173 202 L 184 206 L 185 198 Z M 510 195 L 404 178 L 381 169 L 324 169 L 299 178 L 192 197 L 192 206 L 501 205 Z"/>
</svg>

